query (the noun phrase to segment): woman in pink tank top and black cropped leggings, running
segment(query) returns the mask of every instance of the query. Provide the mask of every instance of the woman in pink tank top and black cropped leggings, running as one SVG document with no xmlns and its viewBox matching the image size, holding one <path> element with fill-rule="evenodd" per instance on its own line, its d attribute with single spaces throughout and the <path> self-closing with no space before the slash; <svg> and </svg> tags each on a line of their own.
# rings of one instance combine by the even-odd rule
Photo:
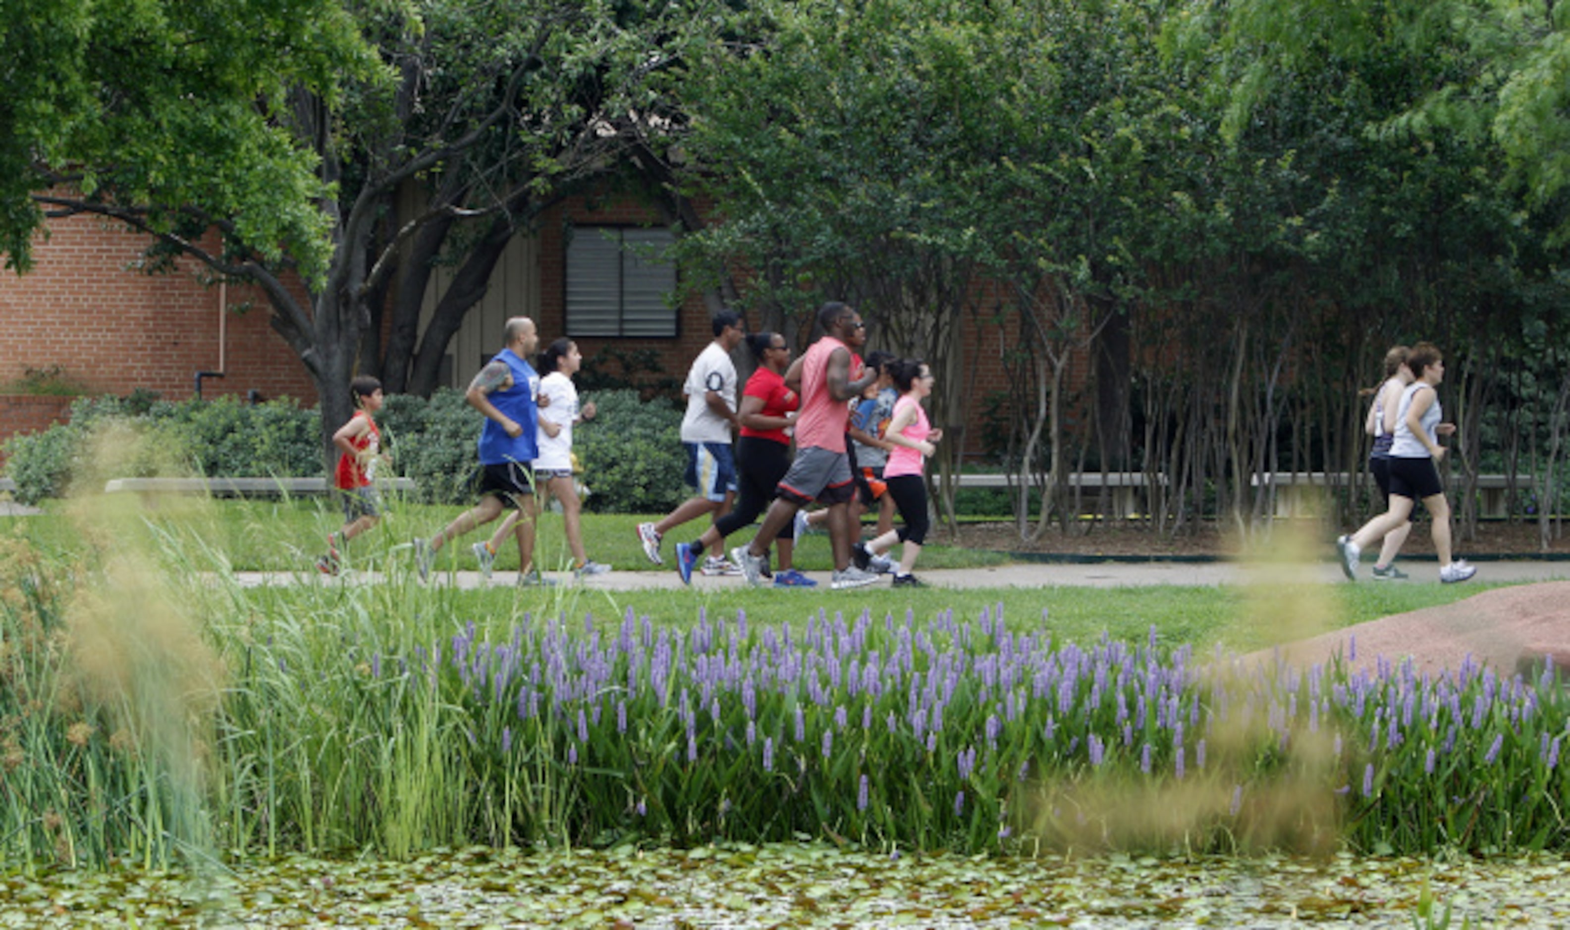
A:
<svg viewBox="0 0 1570 930">
<path fill-rule="evenodd" d="M 895 543 L 904 543 L 900 566 L 895 569 L 893 583 L 896 587 L 920 585 L 911 569 L 926 543 L 926 530 L 931 521 L 926 516 L 926 460 L 937 449 L 934 442 L 944 438 L 942 430 L 934 430 L 922 409 L 922 401 L 933 394 L 933 370 L 918 359 L 901 359 L 890 362 L 893 384 L 900 389 L 900 400 L 893 405 L 893 419 L 889 420 L 889 431 L 884 441 L 892 442 L 889 464 L 884 466 L 884 481 L 889 485 L 889 496 L 893 497 L 904 525 L 890 530 L 871 543 L 856 547 L 857 568 L 865 569 L 873 558 L 882 557 L 893 549 Z"/>
</svg>

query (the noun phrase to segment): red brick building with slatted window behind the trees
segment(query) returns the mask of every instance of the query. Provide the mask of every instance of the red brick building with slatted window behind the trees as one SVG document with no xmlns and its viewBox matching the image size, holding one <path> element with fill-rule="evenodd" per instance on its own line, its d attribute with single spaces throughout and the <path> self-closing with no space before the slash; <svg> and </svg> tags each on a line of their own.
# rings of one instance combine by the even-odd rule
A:
<svg viewBox="0 0 1570 930">
<path fill-rule="evenodd" d="M 498 263 L 488 293 L 447 348 L 441 381 L 466 384 L 501 345 L 502 322 L 517 314 L 534 317 L 543 340 L 571 334 L 586 358 L 612 343 L 623 351 L 653 350 L 666 373 L 680 380 L 711 339 L 708 311 L 699 295 L 675 309 L 656 307 L 659 301 L 650 303 L 647 287 L 642 311 L 633 306 L 634 278 L 648 267 L 628 259 L 633 252 L 617 248 L 614 238 L 661 235 L 650 231 L 648 220 L 634 202 L 590 205 L 579 199 L 548 213 L 543 232 L 515 240 Z M 270 307 L 261 292 L 210 284 L 192 259 L 177 260 L 171 273 L 144 274 L 137 267 L 146 238 L 107 220 L 52 220 L 49 231 L 36 243 L 30 273 L 0 278 L 0 441 L 46 428 L 69 408 L 69 398 L 58 395 L 19 394 L 17 383 L 30 373 L 55 373 L 91 394 L 124 395 L 141 387 L 184 400 L 196 391 L 198 372 L 221 372 L 223 378 L 203 381 L 204 397 L 256 392 L 316 403 L 305 367 L 268 326 Z M 619 296 L 589 293 L 606 290 L 604 262 L 631 270 Z M 427 315 L 444 285 L 441 274 L 432 281 Z M 674 282 L 674 271 L 669 274 Z M 601 298 L 609 303 L 597 303 Z M 612 318 L 615 312 L 606 307 L 622 306 L 617 300 L 625 301 L 623 315 Z M 973 397 L 1005 389 L 995 359 L 1010 337 L 991 328 L 966 332 L 964 342 Z"/>
</svg>

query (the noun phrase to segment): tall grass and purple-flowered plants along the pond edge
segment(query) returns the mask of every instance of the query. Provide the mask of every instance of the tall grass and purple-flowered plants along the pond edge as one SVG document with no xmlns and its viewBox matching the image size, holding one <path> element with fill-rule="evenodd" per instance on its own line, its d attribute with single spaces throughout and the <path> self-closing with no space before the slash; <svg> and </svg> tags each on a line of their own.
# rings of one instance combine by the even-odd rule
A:
<svg viewBox="0 0 1570 930">
<path fill-rule="evenodd" d="M 449 588 L 245 590 L 217 554 L 155 546 L 141 580 L 8 552 L 6 861 L 1570 848 L 1551 668 L 1242 668 L 995 607 L 675 626 L 564 590 L 465 616 Z"/>
</svg>

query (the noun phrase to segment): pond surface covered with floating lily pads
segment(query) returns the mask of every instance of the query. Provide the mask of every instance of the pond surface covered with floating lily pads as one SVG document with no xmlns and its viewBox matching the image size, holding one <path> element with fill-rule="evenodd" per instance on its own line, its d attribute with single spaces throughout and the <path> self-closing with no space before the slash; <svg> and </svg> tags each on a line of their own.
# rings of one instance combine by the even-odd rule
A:
<svg viewBox="0 0 1570 930">
<path fill-rule="evenodd" d="M 824 844 L 286 858 L 209 875 L 0 877 L 0 927 L 1451 927 L 1570 925 L 1570 861 L 964 858 Z M 1432 927 L 1440 927 L 1435 908 Z M 1421 924 L 1419 924 L 1421 927 Z"/>
</svg>

